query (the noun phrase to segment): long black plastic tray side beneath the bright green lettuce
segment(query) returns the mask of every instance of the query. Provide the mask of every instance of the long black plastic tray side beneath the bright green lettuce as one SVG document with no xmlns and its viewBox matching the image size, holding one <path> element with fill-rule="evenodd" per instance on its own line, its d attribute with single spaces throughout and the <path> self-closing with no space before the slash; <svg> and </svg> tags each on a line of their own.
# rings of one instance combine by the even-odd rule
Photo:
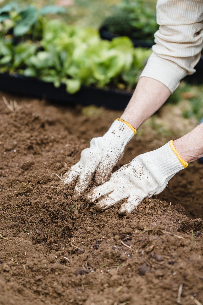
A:
<svg viewBox="0 0 203 305">
<path fill-rule="evenodd" d="M 82 86 L 75 94 L 66 91 L 65 84 L 55 88 L 53 83 L 47 83 L 37 78 L 22 75 L 0 74 L 0 90 L 9 93 L 45 98 L 60 104 L 82 104 L 103 106 L 109 109 L 123 110 L 132 94 L 124 91 L 106 90 L 96 87 Z"/>
</svg>

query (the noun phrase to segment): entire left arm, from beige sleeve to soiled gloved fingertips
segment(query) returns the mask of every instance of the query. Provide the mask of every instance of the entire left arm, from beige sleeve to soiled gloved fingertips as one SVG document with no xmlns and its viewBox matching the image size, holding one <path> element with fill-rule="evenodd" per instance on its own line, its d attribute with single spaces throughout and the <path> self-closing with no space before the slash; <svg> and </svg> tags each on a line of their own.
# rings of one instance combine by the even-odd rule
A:
<svg viewBox="0 0 203 305">
<path fill-rule="evenodd" d="M 135 128 L 138 128 L 163 105 L 170 93 L 177 88 L 182 77 L 195 71 L 193 67 L 199 59 L 202 47 L 202 15 L 195 13 L 201 9 L 200 1 L 163 0 L 157 2 L 157 8 L 160 11 L 158 23 L 161 25 L 155 35 L 156 45 L 153 47 L 152 56 L 141 74 L 131 101 L 121 116 L 121 119 Z M 178 18 L 177 9 L 179 9 Z M 182 10 L 194 12 L 194 14 L 191 14 L 191 17 L 188 14 L 182 14 Z M 170 13 L 171 20 L 167 19 L 168 25 L 165 27 L 166 11 L 167 15 Z M 190 24 L 186 24 L 187 21 Z M 126 126 L 124 130 L 128 135 L 129 130 Z M 114 134 L 117 134 L 117 129 Z M 124 146 L 132 137 L 127 136 L 128 141 L 119 142 L 115 136 L 108 142 L 108 135 L 104 135 L 104 138 L 94 138 L 90 148 L 82 152 L 79 163 L 65 173 L 62 186 L 69 187 L 78 180 L 74 196 L 81 195 L 95 173 L 96 183 L 103 183 L 109 179 L 111 170 L 123 154 Z"/>
</svg>

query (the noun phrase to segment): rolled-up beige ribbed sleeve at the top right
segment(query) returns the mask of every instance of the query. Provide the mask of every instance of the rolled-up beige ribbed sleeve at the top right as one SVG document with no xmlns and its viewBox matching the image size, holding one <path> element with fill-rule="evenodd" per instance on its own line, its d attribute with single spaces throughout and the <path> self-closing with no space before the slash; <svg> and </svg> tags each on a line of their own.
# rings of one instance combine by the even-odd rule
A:
<svg viewBox="0 0 203 305">
<path fill-rule="evenodd" d="M 142 76 L 154 78 L 173 92 L 195 72 L 203 48 L 203 0 L 158 0 L 159 30 Z"/>
</svg>

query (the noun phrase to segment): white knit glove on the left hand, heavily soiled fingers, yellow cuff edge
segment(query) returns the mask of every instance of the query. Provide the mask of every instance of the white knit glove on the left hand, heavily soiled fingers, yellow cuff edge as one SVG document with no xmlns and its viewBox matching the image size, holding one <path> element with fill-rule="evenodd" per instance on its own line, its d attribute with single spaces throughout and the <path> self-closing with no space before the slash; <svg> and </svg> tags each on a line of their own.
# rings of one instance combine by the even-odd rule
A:
<svg viewBox="0 0 203 305">
<path fill-rule="evenodd" d="M 78 179 L 72 195 L 76 199 L 86 190 L 95 172 L 97 184 L 107 181 L 135 134 L 136 130 L 128 122 L 115 120 L 103 137 L 93 138 L 90 147 L 81 152 L 79 162 L 64 174 L 60 187 L 69 187 Z"/>
</svg>

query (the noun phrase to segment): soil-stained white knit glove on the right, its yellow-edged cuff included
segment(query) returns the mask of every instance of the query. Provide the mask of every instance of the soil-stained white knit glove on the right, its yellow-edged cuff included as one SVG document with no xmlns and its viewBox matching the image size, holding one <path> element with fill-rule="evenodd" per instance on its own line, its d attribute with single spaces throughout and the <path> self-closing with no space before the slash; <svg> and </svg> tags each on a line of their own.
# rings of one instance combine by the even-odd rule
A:
<svg viewBox="0 0 203 305">
<path fill-rule="evenodd" d="M 126 199 L 119 213 L 130 213 L 145 197 L 159 194 L 168 181 L 187 167 L 171 140 L 159 149 L 137 156 L 111 175 L 109 181 L 87 194 L 89 202 L 96 202 L 97 210 L 106 210 Z M 102 198 L 100 198 L 103 196 Z"/>
</svg>

